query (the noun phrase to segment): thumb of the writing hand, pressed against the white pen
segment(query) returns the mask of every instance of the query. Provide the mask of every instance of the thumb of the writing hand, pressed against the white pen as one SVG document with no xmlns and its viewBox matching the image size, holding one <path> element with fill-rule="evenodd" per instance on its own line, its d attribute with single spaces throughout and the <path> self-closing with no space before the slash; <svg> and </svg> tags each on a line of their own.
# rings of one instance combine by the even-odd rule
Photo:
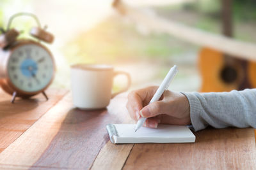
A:
<svg viewBox="0 0 256 170">
<path fill-rule="evenodd" d="M 140 115 L 141 117 L 146 117 L 146 118 L 156 117 L 157 115 L 161 114 L 161 110 L 162 110 L 161 106 L 163 106 L 162 101 L 150 103 L 140 110 Z"/>
</svg>

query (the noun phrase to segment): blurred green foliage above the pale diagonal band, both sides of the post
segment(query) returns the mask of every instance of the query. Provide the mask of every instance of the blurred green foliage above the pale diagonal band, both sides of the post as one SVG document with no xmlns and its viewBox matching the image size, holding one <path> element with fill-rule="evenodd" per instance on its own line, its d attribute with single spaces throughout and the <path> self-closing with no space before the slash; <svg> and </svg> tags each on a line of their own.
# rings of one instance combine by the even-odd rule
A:
<svg viewBox="0 0 256 170">
<path fill-rule="evenodd" d="M 164 6 L 156 8 L 161 15 L 183 24 L 202 29 L 204 31 L 221 34 L 222 0 L 197 0 L 196 2 L 178 4 L 176 6 Z M 233 0 L 232 15 L 234 20 L 234 38 L 243 41 L 256 42 L 253 27 L 256 24 L 256 1 Z M 170 12 L 171 11 L 171 12 Z M 178 13 L 172 16 L 168 13 Z M 189 13 L 189 16 L 182 15 Z"/>
</svg>

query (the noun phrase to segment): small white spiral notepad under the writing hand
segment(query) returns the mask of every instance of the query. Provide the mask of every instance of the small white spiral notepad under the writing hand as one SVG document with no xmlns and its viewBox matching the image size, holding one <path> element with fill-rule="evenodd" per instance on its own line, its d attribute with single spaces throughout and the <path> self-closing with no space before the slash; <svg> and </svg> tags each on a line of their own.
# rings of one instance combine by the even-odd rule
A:
<svg viewBox="0 0 256 170">
<path fill-rule="evenodd" d="M 183 125 L 159 125 L 157 129 L 135 124 L 108 124 L 106 129 L 112 143 L 193 143 L 195 135 Z"/>
</svg>

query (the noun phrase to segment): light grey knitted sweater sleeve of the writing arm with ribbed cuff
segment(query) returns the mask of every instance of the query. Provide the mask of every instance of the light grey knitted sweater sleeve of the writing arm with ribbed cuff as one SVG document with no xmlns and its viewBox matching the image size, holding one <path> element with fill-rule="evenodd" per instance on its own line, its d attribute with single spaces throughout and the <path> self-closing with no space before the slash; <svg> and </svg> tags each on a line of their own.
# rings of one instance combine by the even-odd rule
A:
<svg viewBox="0 0 256 170">
<path fill-rule="evenodd" d="M 256 128 L 256 89 L 182 94 L 188 98 L 195 131 L 205 129 L 208 125 L 215 128 Z"/>
</svg>

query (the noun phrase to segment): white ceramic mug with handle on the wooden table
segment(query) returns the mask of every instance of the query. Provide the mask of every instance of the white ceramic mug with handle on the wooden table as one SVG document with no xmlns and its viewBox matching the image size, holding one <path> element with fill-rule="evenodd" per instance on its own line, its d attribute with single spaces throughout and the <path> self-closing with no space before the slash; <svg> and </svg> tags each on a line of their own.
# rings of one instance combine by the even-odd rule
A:
<svg viewBox="0 0 256 170">
<path fill-rule="evenodd" d="M 127 76 L 127 85 L 112 94 L 113 78 Z M 106 108 L 111 98 L 125 92 L 131 85 L 131 77 L 124 71 L 114 71 L 113 66 L 77 64 L 71 66 L 71 90 L 74 105 L 82 110 Z"/>
</svg>

